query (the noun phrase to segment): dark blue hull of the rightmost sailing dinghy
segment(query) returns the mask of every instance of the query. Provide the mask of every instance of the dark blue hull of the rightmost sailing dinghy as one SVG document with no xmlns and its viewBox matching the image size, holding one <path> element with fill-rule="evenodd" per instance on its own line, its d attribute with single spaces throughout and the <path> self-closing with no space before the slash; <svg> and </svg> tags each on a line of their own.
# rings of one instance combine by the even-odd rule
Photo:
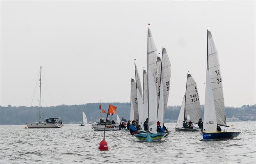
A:
<svg viewBox="0 0 256 164">
<path fill-rule="evenodd" d="M 203 140 L 207 139 L 234 139 L 241 131 L 217 131 L 211 133 L 202 133 Z"/>
</svg>

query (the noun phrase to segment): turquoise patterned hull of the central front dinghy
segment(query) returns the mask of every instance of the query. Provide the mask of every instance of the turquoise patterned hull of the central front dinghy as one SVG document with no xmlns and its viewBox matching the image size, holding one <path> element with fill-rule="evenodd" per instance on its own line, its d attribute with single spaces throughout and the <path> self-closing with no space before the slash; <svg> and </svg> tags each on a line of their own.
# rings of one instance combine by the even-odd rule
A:
<svg viewBox="0 0 256 164">
<path fill-rule="evenodd" d="M 136 138 L 138 138 L 141 142 L 152 142 L 152 141 L 161 141 L 162 138 L 166 133 L 140 133 L 140 134 L 134 134 Z"/>
</svg>

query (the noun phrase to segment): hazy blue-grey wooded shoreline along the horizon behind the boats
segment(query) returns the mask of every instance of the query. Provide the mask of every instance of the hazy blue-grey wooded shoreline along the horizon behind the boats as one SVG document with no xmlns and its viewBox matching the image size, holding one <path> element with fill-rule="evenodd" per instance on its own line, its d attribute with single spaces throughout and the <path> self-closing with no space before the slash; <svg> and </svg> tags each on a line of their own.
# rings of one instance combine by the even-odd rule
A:
<svg viewBox="0 0 256 164">
<path fill-rule="evenodd" d="M 107 112 L 109 103 L 101 103 L 101 108 Z M 116 114 L 120 118 L 124 117 L 129 120 L 130 117 L 130 103 L 111 103 L 116 106 Z M 41 117 L 61 117 L 63 123 L 80 123 L 82 121 L 82 111 L 87 116 L 87 120 L 92 121 L 91 118 L 100 117 L 99 103 L 88 103 L 83 105 L 59 105 L 55 107 L 42 107 Z M 168 106 L 164 115 L 165 120 L 177 120 L 180 113 L 180 106 Z M 204 115 L 204 105 L 201 106 L 202 116 Z M 246 120 L 246 116 L 250 120 L 252 116 L 256 118 L 256 104 L 255 105 L 243 105 L 240 108 L 226 107 L 226 117 L 238 117 L 240 120 Z M 106 113 L 102 113 L 103 117 L 106 117 Z M 110 116 L 110 118 L 116 120 L 116 115 Z M 7 107 L 0 106 L 0 124 L 25 124 L 28 122 L 39 121 L 39 107 Z M 44 121 L 44 119 L 41 119 Z"/>
</svg>

